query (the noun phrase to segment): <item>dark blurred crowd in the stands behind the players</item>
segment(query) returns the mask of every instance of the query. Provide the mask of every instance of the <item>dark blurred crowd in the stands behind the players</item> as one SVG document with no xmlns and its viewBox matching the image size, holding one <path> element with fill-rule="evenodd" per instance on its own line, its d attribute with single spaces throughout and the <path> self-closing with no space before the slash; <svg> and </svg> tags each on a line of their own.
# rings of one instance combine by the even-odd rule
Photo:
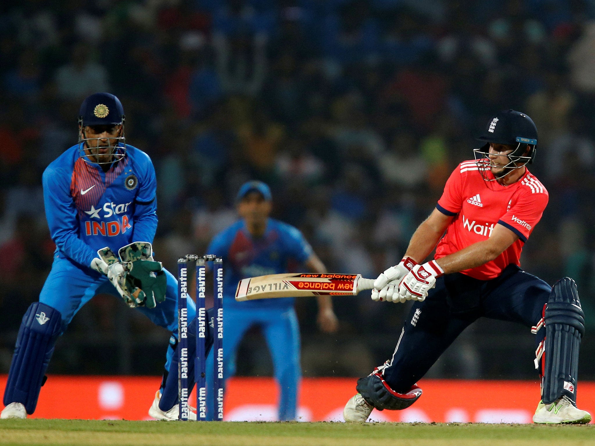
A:
<svg viewBox="0 0 595 446">
<path fill-rule="evenodd" d="M 4 0 L 0 372 L 51 266 L 41 173 L 76 143 L 82 98 L 109 91 L 123 102 L 127 142 L 154 161 L 154 248 L 171 271 L 234 220 L 237 187 L 258 178 L 273 189 L 275 218 L 300 228 L 329 271 L 375 277 L 472 158 L 490 114 L 526 112 L 539 130 L 530 168 L 550 203 L 522 266 L 550 284 L 577 281 L 588 325 L 579 378 L 595 379 L 594 18 L 580 0 Z M 317 332 L 313 300 L 297 304 L 306 377 L 366 375 L 392 353 L 407 310 L 368 296 L 334 303 L 336 335 Z M 48 373 L 156 377 L 168 337 L 97 296 Z M 533 407 L 533 350 L 527 329 L 480 320 L 428 378 L 530 380 Z M 237 369 L 271 375 L 258 331 Z M 343 382 L 350 394 L 355 380 Z"/>
</svg>

